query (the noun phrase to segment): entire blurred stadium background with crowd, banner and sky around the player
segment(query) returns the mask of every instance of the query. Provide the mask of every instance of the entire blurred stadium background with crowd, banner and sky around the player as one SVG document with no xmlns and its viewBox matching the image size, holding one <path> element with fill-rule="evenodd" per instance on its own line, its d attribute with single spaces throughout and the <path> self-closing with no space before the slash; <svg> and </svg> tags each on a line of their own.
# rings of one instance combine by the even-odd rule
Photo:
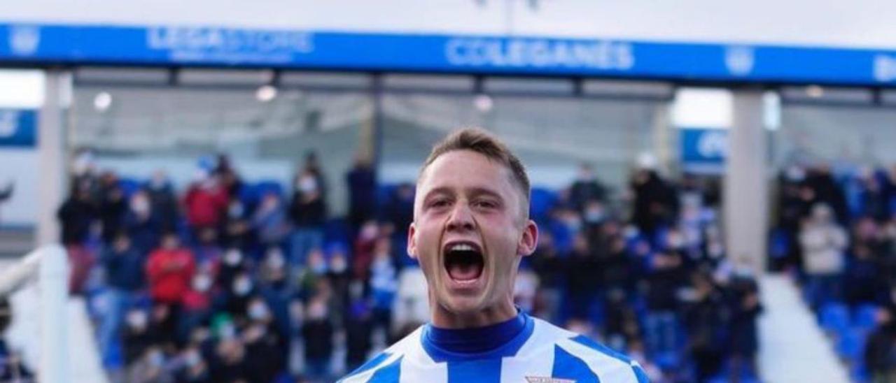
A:
<svg viewBox="0 0 896 383">
<path fill-rule="evenodd" d="M 0 11 L 0 379 L 333 381 L 428 319 L 431 146 L 522 159 L 521 310 L 655 382 L 896 381 L 896 4 Z"/>
</svg>

